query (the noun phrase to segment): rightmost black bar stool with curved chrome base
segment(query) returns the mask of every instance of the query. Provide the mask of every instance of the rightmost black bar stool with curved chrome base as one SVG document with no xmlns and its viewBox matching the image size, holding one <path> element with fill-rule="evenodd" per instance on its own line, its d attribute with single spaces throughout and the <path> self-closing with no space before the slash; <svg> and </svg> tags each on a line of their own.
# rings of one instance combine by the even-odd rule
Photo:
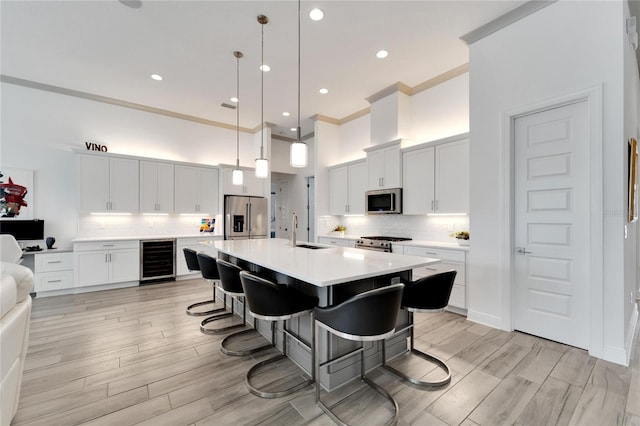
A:
<svg viewBox="0 0 640 426">
<path fill-rule="evenodd" d="M 414 312 L 442 312 L 444 308 L 449 304 L 449 296 L 451 296 L 451 289 L 453 288 L 453 282 L 456 279 L 456 271 L 446 271 L 434 275 L 429 275 L 420 278 L 416 281 L 410 281 L 405 283 L 404 294 L 402 296 L 402 309 L 409 311 L 409 325 L 402 330 L 398 330 L 395 334 L 403 333 L 410 330 L 409 335 L 409 348 L 407 349 L 414 355 L 419 356 L 427 361 L 430 361 L 440 367 L 446 374 L 446 377 L 440 380 L 424 381 L 415 377 L 409 377 L 403 372 L 396 370 L 395 368 L 387 365 L 386 348 L 383 342 L 382 346 L 382 365 L 398 377 L 405 379 L 414 385 L 437 388 L 444 386 L 451 381 L 451 370 L 449 366 L 441 359 L 436 358 L 433 355 L 424 353 L 414 347 L 413 342 L 413 314 Z M 391 336 L 393 337 L 393 336 Z"/>
</svg>

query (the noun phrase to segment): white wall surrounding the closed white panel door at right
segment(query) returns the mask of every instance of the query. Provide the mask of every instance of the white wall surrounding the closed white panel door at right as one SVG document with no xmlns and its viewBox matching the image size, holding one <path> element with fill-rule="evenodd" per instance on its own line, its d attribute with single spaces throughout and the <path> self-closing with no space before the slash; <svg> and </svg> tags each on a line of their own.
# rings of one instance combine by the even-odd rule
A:
<svg viewBox="0 0 640 426">
<path fill-rule="evenodd" d="M 604 292 L 592 294 L 602 312 L 592 351 L 624 362 L 623 296 L 626 137 L 623 134 L 623 2 L 559 1 L 470 46 L 471 227 L 469 318 L 510 329 L 503 253 L 504 205 L 501 115 L 580 92 L 603 90 Z M 596 137 L 599 135 L 596 135 Z M 475 226 L 474 226 L 475 225 Z M 637 260 L 631 260 L 637 263 Z M 635 266 L 634 266 L 635 268 Z M 598 277 L 595 277 L 597 280 Z"/>
</svg>

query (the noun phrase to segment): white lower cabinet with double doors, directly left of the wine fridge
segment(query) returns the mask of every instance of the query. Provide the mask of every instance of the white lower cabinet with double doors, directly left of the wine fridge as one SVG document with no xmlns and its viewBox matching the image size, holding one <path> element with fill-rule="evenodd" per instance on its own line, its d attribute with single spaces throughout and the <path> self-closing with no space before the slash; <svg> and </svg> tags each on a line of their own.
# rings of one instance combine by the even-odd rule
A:
<svg viewBox="0 0 640 426">
<path fill-rule="evenodd" d="M 75 243 L 75 286 L 87 287 L 140 280 L 140 242 Z"/>
</svg>

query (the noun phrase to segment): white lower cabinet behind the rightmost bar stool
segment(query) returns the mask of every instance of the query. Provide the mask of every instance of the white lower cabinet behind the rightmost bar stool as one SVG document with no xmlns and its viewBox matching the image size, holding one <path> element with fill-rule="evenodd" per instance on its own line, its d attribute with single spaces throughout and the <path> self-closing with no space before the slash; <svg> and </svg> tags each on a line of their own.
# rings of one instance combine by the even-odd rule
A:
<svg viewBox="0 0 640 426">
<path fill-rule="evenodd" d="M 455 269 L 457 274 L 453 284 L 453 289 L 451 290 L 451 296 L 449 297 L 449 306 L 467 309 L 467 268 L 465 251 L 422 246 L 404 246 L 404 254 L 440 259 L 440 262 L 434 265 L 414 269 L 414 280 L 427 275 L 433 275 L 439 272 Z"/>
</svg>

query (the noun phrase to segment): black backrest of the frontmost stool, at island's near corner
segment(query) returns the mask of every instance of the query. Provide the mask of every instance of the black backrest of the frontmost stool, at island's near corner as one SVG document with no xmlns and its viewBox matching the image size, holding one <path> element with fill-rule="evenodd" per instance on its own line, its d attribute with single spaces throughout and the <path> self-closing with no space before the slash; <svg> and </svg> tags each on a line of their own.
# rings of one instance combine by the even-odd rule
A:
<svg viewBox="0 0 640 426">
<path fill-rule="evenodd" d="M 403 284 L 357 294 L 336 306 L 316 308 L 316 319 L 353 336 L 377 336 L 395 328 Z"/>
</svg>

